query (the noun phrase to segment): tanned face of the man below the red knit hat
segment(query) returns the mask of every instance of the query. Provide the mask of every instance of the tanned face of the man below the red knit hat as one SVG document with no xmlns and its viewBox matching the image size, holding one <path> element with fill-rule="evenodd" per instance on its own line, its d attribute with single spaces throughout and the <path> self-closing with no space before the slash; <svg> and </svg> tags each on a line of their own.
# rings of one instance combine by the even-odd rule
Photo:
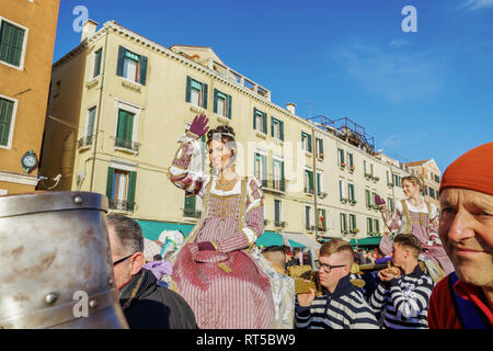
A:
<svg viewBox="0 0 493 351">
<path fill-rule="evenodd" d="M 493 286 L 493 196 L 446 188 L 438 234 L 460 280 Z"/>
</svg>

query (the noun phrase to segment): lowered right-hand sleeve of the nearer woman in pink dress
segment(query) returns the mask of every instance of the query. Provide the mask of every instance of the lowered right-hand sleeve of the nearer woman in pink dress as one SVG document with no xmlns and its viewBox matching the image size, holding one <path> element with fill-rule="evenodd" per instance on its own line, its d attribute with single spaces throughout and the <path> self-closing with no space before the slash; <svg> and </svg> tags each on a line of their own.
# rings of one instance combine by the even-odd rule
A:
<svg viewBox="0 0 493 351">
<path fill-rule="evenodd" d="M 218 240 L 217 250 L 230 252 L 245 249 L 252 246 L 256 238 L 264 231 L 264 194 L 262 184 L 255 178 L 249 178 L 246 182 L 246 210 L 245 223 L 232 236 L 225 240 Z"/>
</svg>

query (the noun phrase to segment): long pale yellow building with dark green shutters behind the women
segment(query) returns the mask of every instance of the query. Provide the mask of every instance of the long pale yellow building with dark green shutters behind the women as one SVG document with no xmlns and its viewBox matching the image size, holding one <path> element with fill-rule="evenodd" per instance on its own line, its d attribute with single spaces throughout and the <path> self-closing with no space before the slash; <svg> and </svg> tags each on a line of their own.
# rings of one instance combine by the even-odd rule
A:
<svg viewBox="0 0 493 351">
<path fill-rule="evenodd" d="M 81 43 L 53 67 L 42 170 L 56 190 L 106 194 L 149 238 L 190 233 L 198 197 L 168 179 L 177 139 L 195 115 L 237 133 L 237 171 L 262 180 L 265 231 L 306 246 L 383 231 L 375 194 L 403 197 L 402 165 L 375 152 L 348 118 L 306 120 L 296 104 L 232 69 L 210 47 L 164 47 L 114 21 L 88 21 Z M 343 125 L 340 125 L 340 124 Z M 206 150 L 195 165 L 208 170 Z M 42 189 L 42 188 L 41 188 Z M 362 241 L 360 241 L 362 242 Z"/>
</svg>

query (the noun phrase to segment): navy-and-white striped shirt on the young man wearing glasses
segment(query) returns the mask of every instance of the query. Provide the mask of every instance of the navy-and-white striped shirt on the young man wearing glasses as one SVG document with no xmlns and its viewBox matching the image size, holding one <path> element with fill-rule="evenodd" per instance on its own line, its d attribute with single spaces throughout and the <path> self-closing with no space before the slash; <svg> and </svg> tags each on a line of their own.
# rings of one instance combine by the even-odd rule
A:
<svg viewBox="0 0 493 351">
<path fill-rule="evenodd" d="M 346 275 L 335 291 L 318 296 L 309 307 L 296 302 L 296 328 L 306 329 L 378 329 L 378 321 L 359 288 Z"/>
</svg>

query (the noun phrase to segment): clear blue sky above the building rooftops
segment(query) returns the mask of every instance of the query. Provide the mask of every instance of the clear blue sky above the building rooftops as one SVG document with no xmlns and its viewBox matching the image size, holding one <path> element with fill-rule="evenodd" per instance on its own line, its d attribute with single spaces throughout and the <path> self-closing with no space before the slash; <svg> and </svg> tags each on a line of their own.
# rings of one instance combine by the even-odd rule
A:
<svg viewBox="0 0 493 351">
<path fill-rule="evenodd" d="M 402 161 L 434 158 L 444 171 L 493 140 L 493 0 L 61 0 L 54 60 L 79 44 L 79 4 L 100 26 L 210 46 L 274 103 L 346 116 Z M 402 31 L 405 5 L 415 33 Z"/>
</svg>

